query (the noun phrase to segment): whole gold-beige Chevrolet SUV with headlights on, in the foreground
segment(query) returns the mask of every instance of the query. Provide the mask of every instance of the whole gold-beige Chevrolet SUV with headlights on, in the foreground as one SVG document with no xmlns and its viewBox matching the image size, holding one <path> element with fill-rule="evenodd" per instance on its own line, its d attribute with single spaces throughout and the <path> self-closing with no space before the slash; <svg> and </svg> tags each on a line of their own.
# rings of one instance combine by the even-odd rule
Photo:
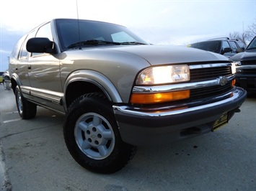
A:
<svg viewBox="0 0 256 191">
<path fill-rule="evenodd" d="M 226 57 L 150 45 L 126 27 L 53 19 L 25 34 L 9 59 L 19 115 L 63 113 L 72 157 L 94 172 L 125 166 L 136 146 L 186 139 L 226 124 L 246 91 Z"/>
</svg>

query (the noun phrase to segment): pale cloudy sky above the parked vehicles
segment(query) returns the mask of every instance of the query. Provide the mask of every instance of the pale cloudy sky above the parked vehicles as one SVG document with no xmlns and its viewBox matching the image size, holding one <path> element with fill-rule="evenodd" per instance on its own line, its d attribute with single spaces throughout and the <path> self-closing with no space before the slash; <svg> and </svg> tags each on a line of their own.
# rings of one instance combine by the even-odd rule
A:
<svg viewBox="0 0 256 191">
<path fill-rule="evenodd" d="M 256 21 L 256 0 L 0 0 L 0 71 L 17 40 L 54 18 L 121 24 L 156 45 L 229 37 Z"/>
</svg>

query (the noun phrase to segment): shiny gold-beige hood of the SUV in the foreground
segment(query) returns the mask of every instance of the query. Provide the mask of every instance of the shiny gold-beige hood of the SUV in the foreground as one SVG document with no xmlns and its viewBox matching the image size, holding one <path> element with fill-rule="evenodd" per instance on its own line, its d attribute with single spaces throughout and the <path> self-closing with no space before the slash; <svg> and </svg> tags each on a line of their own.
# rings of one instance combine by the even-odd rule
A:
<svg viewBox="0 0 256 191">
<path fill-rule="evenodd" d="M 104 50 L 102 50 L 104 49 Z M 190 47 L 178 47 L 169 45 L 129 45 L 102 47 L 101 51 L 107 51 L 109 54 L 120 55 L 125 53 L 141 57 L 150 65 L 162 65 L 185 62 L 218 62 L 229 61 L 227 57 L 205 50 L 198 50 Z M 107 53 L 106 52 L 106 53 Z M 118 53 L 119 52 L 119 53 Z"/>
</svg>

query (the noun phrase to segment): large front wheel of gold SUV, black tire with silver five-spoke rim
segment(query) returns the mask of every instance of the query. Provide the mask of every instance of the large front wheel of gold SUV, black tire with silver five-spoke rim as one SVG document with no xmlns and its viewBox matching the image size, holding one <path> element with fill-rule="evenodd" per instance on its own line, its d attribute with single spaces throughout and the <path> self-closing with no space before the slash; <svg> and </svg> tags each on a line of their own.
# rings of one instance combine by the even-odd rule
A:
<svg viewBox="0 0 256 191">
<path fill-rule="evenodd" d="M 136 146 L 122 141 L 112 104 L 102 93 L 82 95 L 71 104 L 63 134 L 71 156 L 92 172 L 117 172 L 136 154 Z"/>
</svg>

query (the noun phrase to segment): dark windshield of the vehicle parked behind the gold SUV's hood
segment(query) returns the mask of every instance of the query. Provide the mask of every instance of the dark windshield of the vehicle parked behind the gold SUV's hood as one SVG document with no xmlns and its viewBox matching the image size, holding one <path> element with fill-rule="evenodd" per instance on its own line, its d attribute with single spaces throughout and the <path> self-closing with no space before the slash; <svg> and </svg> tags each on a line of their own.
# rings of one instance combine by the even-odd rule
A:
<svg viewBox="0 0 256 191">
<path fill-rule="evenodd" d="M 197 42 L 197 43 L 191 44 L 190 47 L 219 53 L 221 52 L 221 41 Z"/>
</svg>

